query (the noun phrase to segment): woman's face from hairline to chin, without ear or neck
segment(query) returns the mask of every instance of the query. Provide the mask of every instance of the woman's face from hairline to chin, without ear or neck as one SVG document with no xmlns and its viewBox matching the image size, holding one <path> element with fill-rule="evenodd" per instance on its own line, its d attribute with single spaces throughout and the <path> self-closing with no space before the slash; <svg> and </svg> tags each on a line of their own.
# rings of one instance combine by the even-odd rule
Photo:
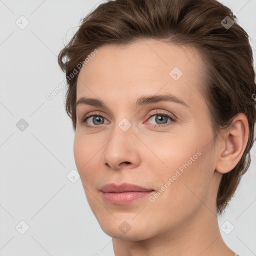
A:
<svg viewBox="0 0 256 256">
<path fill-rule="evenodd" d="M 216 210 L 221 174 L 196 53 L 152 39 L 103 45 L 79 72 L 77 101 L 104 105 L 77 104 L 74 158 L 89 206 L 112 237 L 140 240 L 196 227 L 197 217 Z M 160 95 L 169 98 L 154 100 Z M 145 189 L 103 192 L 109 183 Z"/>
</svg>

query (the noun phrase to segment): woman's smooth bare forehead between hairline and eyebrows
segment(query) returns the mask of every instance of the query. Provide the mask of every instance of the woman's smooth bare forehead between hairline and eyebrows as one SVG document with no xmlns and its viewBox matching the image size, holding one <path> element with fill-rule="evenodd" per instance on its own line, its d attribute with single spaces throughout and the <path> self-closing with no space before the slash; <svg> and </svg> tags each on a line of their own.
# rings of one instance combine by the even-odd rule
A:
<svg viewBox="0 0 256 256">
<path fill-rule="evenodd" d="M 104 44 L 85 64 L 77 79 L 77 98 L 122 98 L 133 102 L 142 94 L 172 93 L 186 102 L 200 96 L 203 62 L 197 49 L 154 39 L 128 45 Z M 120 103 L 122 103 L 120 101 Z"/>
</svg>

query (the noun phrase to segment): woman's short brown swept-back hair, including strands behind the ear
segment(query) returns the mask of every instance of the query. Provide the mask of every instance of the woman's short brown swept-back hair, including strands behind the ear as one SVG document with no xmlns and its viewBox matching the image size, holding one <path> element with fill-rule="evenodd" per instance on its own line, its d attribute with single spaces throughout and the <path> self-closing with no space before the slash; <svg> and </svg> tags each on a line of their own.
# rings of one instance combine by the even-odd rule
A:
<svg viewBox="0 0 256 256">
<path fill-rule="evenodd" d="M 237 165 L 223 174 L 216 207 L 222 214 L 250 164 L 256 118 L 255 71 L 248 34 L 232 11 L 217 0 L 115 0 L 101 3 L 82 19 L 79 29 L 59 52 L 65 71 L 65 110 L 76 129 L 76 81 L 70 78 L 78 63 L 106 43 L 126 45 L 153 38 L 195 47 L 205 63 L 207 84 L 202 92 L 215 135 L 242 112 L 248 119 L 249 137 Z M 230 27 L 225 24 L 231 24 Z"/>
</svg>

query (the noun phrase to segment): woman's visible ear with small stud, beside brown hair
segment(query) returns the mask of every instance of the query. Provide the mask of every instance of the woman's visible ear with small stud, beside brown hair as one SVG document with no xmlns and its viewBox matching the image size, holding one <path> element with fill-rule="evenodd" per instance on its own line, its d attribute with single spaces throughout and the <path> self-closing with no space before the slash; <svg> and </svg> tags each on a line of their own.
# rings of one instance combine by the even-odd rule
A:
<svg viewBox="0 0 256 256">
<path fill-rule="evenodd" d="M 244 152 L 248 141 L 248 120 L 245 114 L 238 113 L 232 120 L 228 130 L 222 133 L 220 149 L 215 170 L 226 173 L 232 170 Z"/>
</svg>

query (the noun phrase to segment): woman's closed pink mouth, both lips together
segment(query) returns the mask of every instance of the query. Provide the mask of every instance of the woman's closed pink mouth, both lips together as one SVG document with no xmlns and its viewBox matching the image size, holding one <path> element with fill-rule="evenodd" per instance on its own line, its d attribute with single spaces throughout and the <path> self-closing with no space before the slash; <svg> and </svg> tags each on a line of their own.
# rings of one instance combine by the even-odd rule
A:
<svg viewBox="0 0 256 256">
<path fill-rule="evenodd" d="M 127 204 L 154 192 L 152 188 L 145 188 L 135 184 L 109 183 L 99 188 L 103 199 L 113 204 Z"/>
</svg>

